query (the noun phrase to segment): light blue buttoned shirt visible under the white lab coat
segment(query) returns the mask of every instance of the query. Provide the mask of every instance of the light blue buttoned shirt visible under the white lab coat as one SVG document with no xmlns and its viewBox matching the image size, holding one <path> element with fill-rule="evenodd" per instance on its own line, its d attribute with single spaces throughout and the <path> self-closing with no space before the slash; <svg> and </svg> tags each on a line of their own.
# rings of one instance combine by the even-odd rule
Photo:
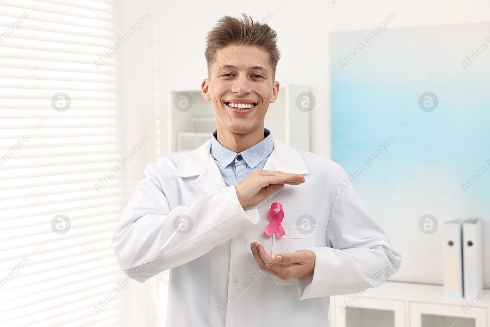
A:
<svg viewBox="0 0 490 327">
<path fill-rule="evenodd" d="M 265 139 L 240 153 L 223 147 L 216 138 L 217 133 L 215 129 L 211 137 L 210 152 L 220 169 L 226 186 L 237 186 L 255 169 L 264 169 L 267 158 L 269 158 L 270 152 L 274 148 L 269 129 L 264 128 Z"/>
</svg>

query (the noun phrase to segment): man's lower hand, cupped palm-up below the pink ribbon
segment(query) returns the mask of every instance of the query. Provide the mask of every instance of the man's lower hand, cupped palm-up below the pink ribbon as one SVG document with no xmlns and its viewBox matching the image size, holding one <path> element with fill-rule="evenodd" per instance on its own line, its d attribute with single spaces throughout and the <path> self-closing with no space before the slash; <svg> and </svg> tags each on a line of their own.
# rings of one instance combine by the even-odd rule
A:
<svg viewBox="0 0 490 327">
<path fill-rule="evenodd" d="M 250 244 L 250 250 L 260 269 L 282 280 L 313 275 L 315 271 L 315 252 L 310 250 L 278 253 L 274 258 L 257 242 Z"/>
</svg>

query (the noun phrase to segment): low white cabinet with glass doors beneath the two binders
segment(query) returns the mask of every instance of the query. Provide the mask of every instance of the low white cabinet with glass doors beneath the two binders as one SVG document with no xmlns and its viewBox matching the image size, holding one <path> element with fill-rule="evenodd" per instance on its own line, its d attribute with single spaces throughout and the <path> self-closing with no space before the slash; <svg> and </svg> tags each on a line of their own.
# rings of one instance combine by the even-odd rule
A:
<svg viewBox="0 0 490 327">
<path fill-rule="evenodd" d="M 330 327 L 371 327 L 367 321 L 356 325 L 356 317 L 349 318 L 350 323 L 347 324 L 351 309 L 345 311 L 346 307 L 371 309 L 373 312 L 381 310 L 377 311 L 379 316 L 383 316 L 382 311 L 393 312 L 392 322 L 378 322 L 373 327 L 489 327 L 490 290 L 487 291 L 483 299 L 473 300 L 475 305 L 471 304 L 470 308 L 466 301 L 471 299 L 444 297 L 442 285 L 386 281 L 366 290 L 364 295 L 333 296 L 329 311 Z M 464 310 L 465 306 L 469 310 Z"/>
</svg>

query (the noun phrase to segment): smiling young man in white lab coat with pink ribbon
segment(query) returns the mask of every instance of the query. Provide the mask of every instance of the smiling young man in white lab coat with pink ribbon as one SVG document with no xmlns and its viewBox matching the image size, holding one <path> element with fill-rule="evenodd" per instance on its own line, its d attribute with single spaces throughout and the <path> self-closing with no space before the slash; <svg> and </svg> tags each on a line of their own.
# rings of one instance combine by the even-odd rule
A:
<svg viewBox="0 0 490 327">
<path fill-rule="evenodd" d="M 170 269 L 170 327 L 327 326 L 331 295 L 378 286 L 401 254 L 339 164 L 264 128 L 275 32 L 223 17 L 206 59 L 217 129 L 147 166 L 113 235 L 119 265 L 140 282 Z"/>
</svg>

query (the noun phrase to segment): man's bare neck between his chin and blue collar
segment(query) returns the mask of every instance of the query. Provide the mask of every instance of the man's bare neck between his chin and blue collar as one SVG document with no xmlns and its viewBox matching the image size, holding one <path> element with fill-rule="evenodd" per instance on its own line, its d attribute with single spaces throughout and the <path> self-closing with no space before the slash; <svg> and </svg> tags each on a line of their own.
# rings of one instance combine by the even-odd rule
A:
<svg viewBox="0 0 490 327">
<path fill-rule="evenodd" d="M 257 128 L 246 134 L 233 133 L 226 128 L 217 126 L 217 134 L 218 142 L 223 147 L 236 153 L 250 149 L 265 138 L 264 125 L 257 126 Z"/>
</svg>

